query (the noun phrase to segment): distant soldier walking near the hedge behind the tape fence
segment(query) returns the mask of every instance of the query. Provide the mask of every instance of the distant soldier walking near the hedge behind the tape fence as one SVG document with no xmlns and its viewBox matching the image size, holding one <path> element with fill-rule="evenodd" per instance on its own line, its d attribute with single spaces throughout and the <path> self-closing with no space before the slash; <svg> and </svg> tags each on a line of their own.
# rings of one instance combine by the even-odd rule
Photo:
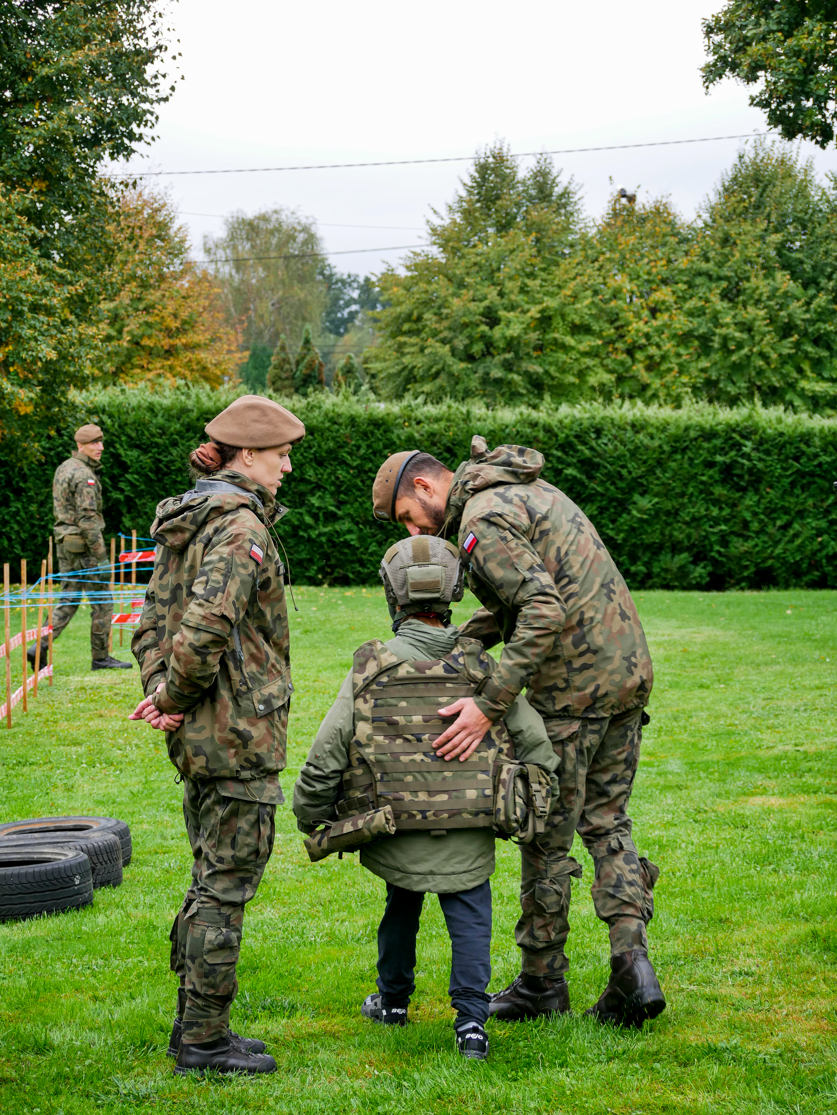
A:
<svg viewBox="0 0 837 1115">
<path fill-rule="evenodd" d="M 61 574 L 81 570 L 101 570 L 108 565 L 108 554 L 101 532 L 101 452 L 103 434 L 93 424 L 76 430 L 76 452 L 58 466 L 52 481 L 52 507 L 58 569 Z M 120 662 L 108 655 L 108 634 L 114 604 L 105 593 L 110 584 L 109 573 L 91 576 L 61 576 L 61 594 L 66 601 L 52 612 L 52 639 L 57 639 L 78 611 L 82 592 L 90 603 L 90 663 L 91 670 L 130 670 L 133 662 Z M 41 662 L 46 661 L 48 637 L 41 640 Z M 27 651 L 35 666 L 37 643 Z"/>
</svg>

